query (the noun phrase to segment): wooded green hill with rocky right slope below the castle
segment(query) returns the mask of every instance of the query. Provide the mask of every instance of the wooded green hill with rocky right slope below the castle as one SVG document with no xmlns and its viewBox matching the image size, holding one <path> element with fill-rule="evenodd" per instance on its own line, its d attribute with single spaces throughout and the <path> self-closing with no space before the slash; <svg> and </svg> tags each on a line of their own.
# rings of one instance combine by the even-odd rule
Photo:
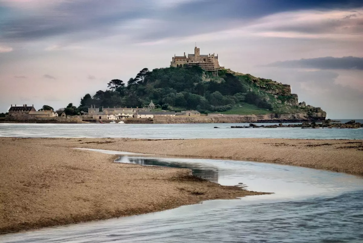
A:
<svg viewBox="0 0 363 243">
<path fill-rule="evenodd" d="M 219 71 L 218 77 L 198 66 L 190 68 L 142 69 L 127 84 L 114 79 L 109 90 L 99 90 L 94 96 L 86 94 L 74 112 L 87 112 L 90 105 L 103 107 L 144 107 L 152 100 L 163 110 L 199 110 L 201 113 L 224 114 L 305 114 L 305 117 L 324 120 L 321 108 L 298 102 L 291 87 L 250 74 Z"/>
</svg>

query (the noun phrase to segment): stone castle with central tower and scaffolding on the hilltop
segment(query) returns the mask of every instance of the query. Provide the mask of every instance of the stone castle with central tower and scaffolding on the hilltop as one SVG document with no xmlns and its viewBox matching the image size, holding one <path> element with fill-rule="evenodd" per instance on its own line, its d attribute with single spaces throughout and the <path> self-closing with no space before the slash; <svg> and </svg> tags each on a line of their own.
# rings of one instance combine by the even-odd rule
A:
<svg viewBox="0 0 363 243">
<path fill-rule="evenodd" d="M 218 63 L 218 54 L 201 55 L 199 48 L 194 48 L 194 54 L 188 54 L 185 56 L 175 56 L 170 62 L 171 67 L 179 68 L 183 66 L 200 66 L 205 71 L 211 71 L 213 76 L 218 75 L 218 70 L 221 69 Z"/>
</svg>

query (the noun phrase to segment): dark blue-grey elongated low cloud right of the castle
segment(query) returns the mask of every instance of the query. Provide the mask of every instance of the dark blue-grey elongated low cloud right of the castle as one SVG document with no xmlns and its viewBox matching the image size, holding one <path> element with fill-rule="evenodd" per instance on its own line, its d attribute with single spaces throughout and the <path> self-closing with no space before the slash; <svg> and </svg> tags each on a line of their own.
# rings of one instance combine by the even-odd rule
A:
<svg viewBox="0 0 363 243">
<path fill-rule="evenodd" d="M 282 68 L 316 68 L 316 69 L 358 69 L 363 70 L 362 57 L 318 57 L 291 61 L 278 61 L 264 66 Z"/>
</svg>

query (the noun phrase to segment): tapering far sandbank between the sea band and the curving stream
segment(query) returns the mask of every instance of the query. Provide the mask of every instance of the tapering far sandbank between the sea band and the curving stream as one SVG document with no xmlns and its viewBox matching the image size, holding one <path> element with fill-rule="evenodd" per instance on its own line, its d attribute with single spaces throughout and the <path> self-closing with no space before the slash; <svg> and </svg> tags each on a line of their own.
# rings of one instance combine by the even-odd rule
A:
<svg viewBox="0 0 363 243">
<path fill-rule="evenodd" d="M 363 140 L 347 139 L 127 139 L 65 138 L 51 146 L 82 147 L 174 157 L 274 162 L 363 175 Z"/>
</svg>

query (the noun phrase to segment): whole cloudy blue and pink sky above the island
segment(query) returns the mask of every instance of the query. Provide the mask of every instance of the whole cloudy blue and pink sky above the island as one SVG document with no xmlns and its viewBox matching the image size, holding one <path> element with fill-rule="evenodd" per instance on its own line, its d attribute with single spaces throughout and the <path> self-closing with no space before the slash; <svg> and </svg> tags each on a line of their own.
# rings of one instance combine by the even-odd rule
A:
<svg viewBox="0 0 363 243">
<path fill-rule="evenodd" d="M 328 118 L 363 119 L 363 1 L 0 0 L 0 112 L 78 106 L 174 54 L 290 84 Z"/>
</svg>

